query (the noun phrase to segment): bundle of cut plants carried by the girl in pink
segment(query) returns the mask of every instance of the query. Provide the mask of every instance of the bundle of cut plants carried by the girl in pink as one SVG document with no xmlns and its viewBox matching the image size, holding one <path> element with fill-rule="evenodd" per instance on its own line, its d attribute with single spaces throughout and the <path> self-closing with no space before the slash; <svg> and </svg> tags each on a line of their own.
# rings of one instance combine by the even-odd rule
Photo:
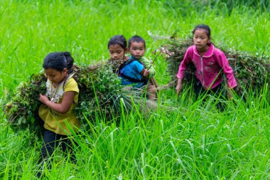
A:
<svg viewBox="0 0 270 180">
<path fill-rule="evenodd" d="M 171 72 L 171 87 L 175 87 L 178 73 L 178 68 L 183 60 L 185 51 L 189 46 L 193 45 L 192 39 L 175 40 L 166 45 L 168 53 L 166 58 L 168 72 Z M 234 70 L 234 76 L 237 79 L 237 94 L 242 95 L 244 91 L 262 89 L 266 83 L 270 83 L 269 56 L 252 55 L 247 52 L 232 51 L 222 49 L 229 65 Z M 195 67 L 192 63 L 185 71 L 185 83 L 188 86 L 193 85 L 192 79 L 195 75 Z"/>
</svg>

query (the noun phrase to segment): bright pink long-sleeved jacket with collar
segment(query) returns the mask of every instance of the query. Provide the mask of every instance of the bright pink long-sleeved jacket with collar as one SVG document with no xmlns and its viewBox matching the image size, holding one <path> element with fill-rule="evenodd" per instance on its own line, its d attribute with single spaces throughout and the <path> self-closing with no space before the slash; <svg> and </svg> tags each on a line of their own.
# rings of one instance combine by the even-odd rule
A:
<svg viewBox="0 0 270 180">
<path fill-rule="evenodd" d="M 190 46 L 185 52 L 183 61 L 180 63 L 177 78 L 184 78 L 185 69 L 191 61 L 195 65 L 196 77 L 200 80 L 203 88 L 213 89 L 220 85 L 222 82 L 221 70 L 223 70 L 228 80 L 228 88 L 232 89 L 237 86 L 232 67 L 229 65 L 225 54 L 220 49 L 215 48 L 212 43 L 207 52 L 202 56 L 194 45 Z"/>
</svg>

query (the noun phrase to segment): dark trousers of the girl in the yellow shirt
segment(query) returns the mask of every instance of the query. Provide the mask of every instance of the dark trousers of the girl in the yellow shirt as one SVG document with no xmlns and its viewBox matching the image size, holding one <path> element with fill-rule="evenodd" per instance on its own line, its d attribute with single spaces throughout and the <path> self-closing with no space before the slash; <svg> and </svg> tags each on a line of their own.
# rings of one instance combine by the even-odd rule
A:
<svg viewBox="0 0 270 180">
<path fill-rule="evenodd" d="M 61 134 L 55 134 L 55 132 L 52 132 L 48 129 L 45 129 L 44 135 L 43 135 L 43 145 L 41 148 L 41 158 L 38 161 L 38 164 L 41 165 L 41 169 L 43 169 L 43 164 L 47 163 L 47 168 L 51 168 L 51 162 L 53 161 L 53 152 L 55 152 L 55 148 L 57 148 L 59 145 L 62 147 L 63 152 L 65 153 L 65 157 L 68 157 L 68 154 L 70 154 L 70 161 L 73 163 L 76 163 L 76 157 L 75 154 L 73 154 L 73 142 L 70 140 L 70 137 L 66 135 Z M 75 145 L 77 145 L 75 143 Z M 41 172 L 38 173 L 38 176 L 41 176 Z"/>
</svg>

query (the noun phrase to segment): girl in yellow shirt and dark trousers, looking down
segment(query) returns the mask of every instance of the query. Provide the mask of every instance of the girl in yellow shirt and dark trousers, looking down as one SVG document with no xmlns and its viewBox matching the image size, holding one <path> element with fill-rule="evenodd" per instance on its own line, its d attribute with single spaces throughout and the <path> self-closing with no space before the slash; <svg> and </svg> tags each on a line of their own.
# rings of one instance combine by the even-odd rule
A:
<svg viewBox="0 0 270 180">
<path fill-rule="evenodd" d="M 41 149 L 42 158 L 39 163 L 48 160 L 60 143 L 63 152 L 70 153 L 70 160 L 75 162 L 72 142 L 69 135 L 77 132 L 80 122 L 75 116 L 75 107 L 78 102 L 79 88 L 72 78 L 73 58 L 70 53 L 50 53 L 43 62 L 45 76 L 48 78 L 45 95 L 40 94 L 39 100 L 43 105 L 38 115 L 44 121 L 44 142 Z M 70 132 L 70 129 L 72 129 Z M 48 162 L 50 169 L 50 162 Z M 38 173 L 41 176 L 41 172 Z"/>
</svg>

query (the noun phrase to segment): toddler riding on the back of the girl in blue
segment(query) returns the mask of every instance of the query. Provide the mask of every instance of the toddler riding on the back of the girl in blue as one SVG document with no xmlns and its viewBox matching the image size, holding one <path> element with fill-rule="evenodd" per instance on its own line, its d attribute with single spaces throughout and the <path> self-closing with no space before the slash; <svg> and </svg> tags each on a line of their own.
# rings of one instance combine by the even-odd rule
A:
<svg viewBox="0 0 270 180">
<path fill-rule="evenodd" d="M 144 57 L 144 53 L 146 51 L 146 42 L 144 41 L 144 38 L 141 38 L 140 36 L 132 36 L 129 39 L 128 48 L 129 53 L 131 54 L 131 59 L 139 60 L 139 62 L 144 65 L 144 68 L 146 68 L 144 71 L 144 77 L 149 78 L 150 80 L 150 84 L 148 83 L 147 87 L 148 98 L 156 98 L 156 89 L 158 89 L 158 84 L 153 78 L 153 76 L 156 75 L 156 70 L 153 68 L 150 61 Z"/>
</svg>

